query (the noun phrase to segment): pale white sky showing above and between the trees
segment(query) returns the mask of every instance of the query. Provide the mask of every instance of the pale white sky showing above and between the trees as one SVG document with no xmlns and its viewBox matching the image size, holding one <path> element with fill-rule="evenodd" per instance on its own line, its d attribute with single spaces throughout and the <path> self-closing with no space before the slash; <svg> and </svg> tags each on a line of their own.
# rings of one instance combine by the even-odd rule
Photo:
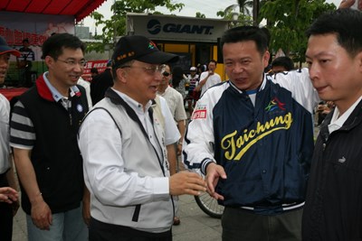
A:
<svg viewBox="0 0 362 241">
<path fill-rule="evenodd" d="M 290 0 L 286 0 L 290 1 Z M 326 0 L 327 3 L 333 3 L 338 6 L 341 0 Z M 110 6 L 113 4 L 114 0 L 107 0 L 96 10 L 100 14 L 104 15 L 104 19 L 110 19 L 111 11 Z M 237 3 L 236 0 L 174 0 L 172 3 L 183 3 L 185 6 L 181 10 L 181 12 L 172 12 L 172 14 L 176 14 L 179 16 L 192 16 L 195 17 L 196 12 L 200 12 L 201 14 L 205 14 L 206 18 L 220 18 L 216 15 L 218 11 L 224 11 L 224 9 L 229 5 L 235 5 Z M 170 14 L 165 8 L 157 8 L 157 11 Z M 86 17 L 83 21 L 84 26 L 90 27 L 90 32 L 95 32 L 95 24 L 94 20 L 90 17 Z M 97 32 L 101 32 L 101 27 L 97 28 Z"/>
</svg>

